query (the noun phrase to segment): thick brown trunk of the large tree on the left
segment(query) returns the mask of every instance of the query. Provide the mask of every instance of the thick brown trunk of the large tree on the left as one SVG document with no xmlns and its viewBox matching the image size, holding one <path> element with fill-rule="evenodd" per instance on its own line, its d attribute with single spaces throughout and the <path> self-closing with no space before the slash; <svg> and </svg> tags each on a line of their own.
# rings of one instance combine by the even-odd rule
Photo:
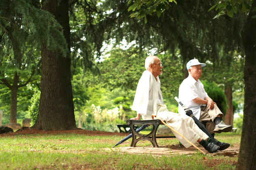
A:
<svg viewBox="0 0 256 170">
<path fill-rule="evenodd" d="M 70 49 L 69 0 L 43 0 L 43 9 L 52 13 L 63 27 Z M 75 129 L 74 104 L 71 86 L 70 53 L 64 57 L 60 51 L 50 51 L 46 44 L 41 47 L 42 77 L 39 113 L 36 129 Z"/>
</svg>

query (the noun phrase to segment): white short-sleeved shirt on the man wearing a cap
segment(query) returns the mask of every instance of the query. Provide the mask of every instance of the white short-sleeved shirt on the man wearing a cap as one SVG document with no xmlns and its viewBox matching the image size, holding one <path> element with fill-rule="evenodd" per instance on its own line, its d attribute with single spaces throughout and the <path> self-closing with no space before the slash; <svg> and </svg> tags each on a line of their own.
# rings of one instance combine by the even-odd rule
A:
<svg viewBox="0 0 256 170">
<path fill-rule="evenodd" d="M 199 79 L 196 81 L 192 76 L 189 75 L 180 85 L 179 99 L 181 100 L 181 103 L 191 109 L 195 117 L 199 119 L 201 112 L 200 107 L 203 106 L 203 104 L 198 104 L 193 101 L 193 99 L 197 97 L 206 99 L 208 95 L 205 92 L 201 81 Z M 178 112 L 185 114 L 181 105 L 179 105 Z"/>
</svg>

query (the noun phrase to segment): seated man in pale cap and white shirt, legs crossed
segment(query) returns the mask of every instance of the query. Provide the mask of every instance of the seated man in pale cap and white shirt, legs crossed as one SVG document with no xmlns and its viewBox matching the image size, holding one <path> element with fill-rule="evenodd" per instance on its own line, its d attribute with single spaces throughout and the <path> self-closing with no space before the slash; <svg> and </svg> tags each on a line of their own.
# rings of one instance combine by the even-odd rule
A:
<svg viewBox="0 0 256 170">
<path fill-rule="evenodd" d="M 207 95 L 203 84 L 199 78 L 202 74 L 202 67 L 205 63 L 200 63 L 197 59 L 187 62 L 187 71 L 189 76 L 183 80 L 179 88 L 179 99 L 181 102 L 192 110 L 194 116 L 202 122 L 207 130 L 214 136 L 214 132 L 230 132 L 231 125 L 226 125 L 222 121 L 223 113 L 217 107 L 217 104 Z M 184 109 L 179 106 L 179 113 Z"/>
</svg>

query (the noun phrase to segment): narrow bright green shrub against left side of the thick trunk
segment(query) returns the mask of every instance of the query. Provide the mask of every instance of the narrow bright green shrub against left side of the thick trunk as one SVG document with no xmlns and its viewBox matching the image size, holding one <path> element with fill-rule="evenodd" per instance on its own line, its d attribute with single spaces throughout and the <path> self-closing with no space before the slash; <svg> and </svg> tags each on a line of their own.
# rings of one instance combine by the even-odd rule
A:
<svg viewBox="0 0 256 170">
<path fill-rule="evenodd" d="M 39 102 L 40 102 L 40 94 L 39 90 L 35 90 L 33 97 L 31 98 L 31 105 L 29 106 L 29 114 L 31 117 L 31 126 L 36 123 L 38 111 L 39 111 Z"/>
</svg>

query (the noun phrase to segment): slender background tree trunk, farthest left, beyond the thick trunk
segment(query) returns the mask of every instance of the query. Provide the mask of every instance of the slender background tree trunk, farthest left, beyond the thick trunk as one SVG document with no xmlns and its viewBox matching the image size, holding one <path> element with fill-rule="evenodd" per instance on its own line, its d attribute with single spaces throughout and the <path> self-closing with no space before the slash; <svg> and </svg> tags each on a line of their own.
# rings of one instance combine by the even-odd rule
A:
<svg viewBox="0 0 256 170">
<path fill-rule="evenodd" d="M 10 110 L 10 123 L 17 123 L 17 94 L 18 94 L 18 81 L 19 76 L 17 73 L 14 74 L 13 85 L 10 87 L 11 90 L 11 110 Z"/>
</svg>

